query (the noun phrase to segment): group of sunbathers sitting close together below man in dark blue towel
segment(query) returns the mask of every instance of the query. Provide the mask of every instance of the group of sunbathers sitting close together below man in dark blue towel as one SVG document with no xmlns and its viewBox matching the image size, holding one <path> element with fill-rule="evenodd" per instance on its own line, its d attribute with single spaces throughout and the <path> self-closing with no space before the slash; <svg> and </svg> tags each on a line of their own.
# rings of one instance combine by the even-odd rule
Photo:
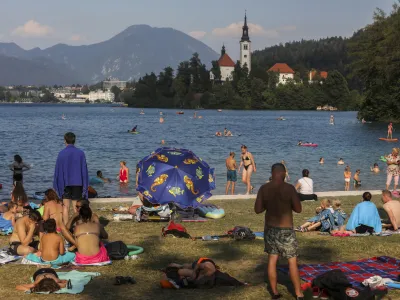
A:
<svg viewBox="0 0 400 300">
<path fill-rule="evenodd" d="M 72 261 L 78 264 L 108 261 L 107 251 L 101 242 L 108 238 L 108 234 L 99 217 L 92 212 L 87 200 L 74 202 L 75 213 L 65 220 L 62 201 L 54 190 L 49 189 L 40 209 L 24 205 L 21 216 L 17 218 L 19 204 L 23 204 L 16 203 L 12 198 L 7 204 L 8 211 L 0 217 L 0 223 L 1 219 L 7 220 L 13 227 L 9 252 L 25 256 L 33 263 L 50 266 Z M 66 245 L 71 252 L 65 250 Z"/>
</svg>

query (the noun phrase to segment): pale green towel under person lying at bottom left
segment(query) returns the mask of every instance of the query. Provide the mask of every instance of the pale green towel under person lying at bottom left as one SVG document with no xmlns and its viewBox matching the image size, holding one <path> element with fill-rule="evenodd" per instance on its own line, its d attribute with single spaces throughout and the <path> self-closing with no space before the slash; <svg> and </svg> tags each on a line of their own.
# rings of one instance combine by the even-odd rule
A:
<svg viewBox="0 0 400 300">
<path fill-rule="evenodd" d="M 89 283 L 92 278 L 100 276 L 98 272 L 79 272 L 72 270 L 69 272 L 57 272 L 58 278 L 61 280 L 71 280 L 71 288 L 63 288 L 55 292 L 55 294 L 80 294 L 83 292 L 85 285 Z M 31 278 L 33 282 L 33 278 Z M 31 292 L 26 292 L 30 294 Z M 49 294 L 49 293 L 37 293 L 37 294 Z"/>
</svg>

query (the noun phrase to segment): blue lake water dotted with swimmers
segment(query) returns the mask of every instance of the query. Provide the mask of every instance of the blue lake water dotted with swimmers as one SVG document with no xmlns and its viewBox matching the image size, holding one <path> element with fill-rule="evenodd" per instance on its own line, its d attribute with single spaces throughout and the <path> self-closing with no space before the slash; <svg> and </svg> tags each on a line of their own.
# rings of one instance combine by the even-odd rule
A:
<svg viewBox="0 0 400 300">
<path fill-rule="evenodd" d="M 63 135 L 72 131 L 77 135 L 77 147 L 86 153 L 90 176 L 102 170 L 113 183 L 95 186 L 100 196 L 134 195 L 134 182 L 120 187 L 116 176 L 119 161 L 127 161 L 132 175 L 136 163 L 160 147 L 188 148 L 216 170 L 217 189 L 224 193 L 226 182 L 225 158 L 230 151 L 239 157 L 240 145 L 248 146 L 257 163 L 253 185 L 258 189 L 269 178 L 273 163 L 284 159 L 290 182 L 301 177 L 308 168 L 316 191 L 343 190 L 344 166 L 337 166 L 339 158 L 350 165 L 352 172 L 361 169 L 363 189 L 380 189 L 385 185 L 385 172 L 374 175 L 370 165 L 381 155 L 389 153 L 394 144 L 381 142 L 386 135 L 385 124 L 360 124 L 356 112 L 335 112 L 336 124 L 329 125 L 329 112 L 317 111 L 209 111 L 202 110 L 202 119 L 193 119 L 193 111 L 176 115 L 175 110 L 163 110 L 165 122 L 159 123 L 159 110 L 146 109 L 145 115 L 131 108 L 112 108 L 92 105 L 0 105 L 0 198 L 9 198 L 12 172 L 8 165 L 18 153 L 32 169 L 24 176 L 24 184 L 32 195 L 52 186 L 58 152 L 63 149 Z M 67 119 L 62 120 L 65 114 Z M 286 121 L 277 121 L 284 116 Z M 140 134 L 127 130 L 138 125 Z M 215 137 L 217 130 L 227 127 L 234 137 Z M 396 135 L 396 131 L 394 133 Z M 317 143 L 318 148 L 298 147 L 298 140 Z M 325 158 L 325 165 L 318 163 Z M 384 164 L 379 162 L 381 169 Z M 237 193 L 245 186 L 238 182 Z"/>
</svg>

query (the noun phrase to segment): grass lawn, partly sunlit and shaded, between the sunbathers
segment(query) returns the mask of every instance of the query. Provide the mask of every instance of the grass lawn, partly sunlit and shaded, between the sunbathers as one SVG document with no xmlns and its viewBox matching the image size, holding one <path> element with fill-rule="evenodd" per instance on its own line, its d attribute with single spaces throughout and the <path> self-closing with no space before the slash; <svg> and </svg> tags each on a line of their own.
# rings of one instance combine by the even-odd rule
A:
<svg viewBox="0 0 400 300">
<path fill-rule="evenodd" d="M 341 197 L 344 210 L 350 214 L 360 197 Z M 381 207 L 379 197 L 375 203 Z M 254 201 L 235 200 L 220 201 L 216 204 L 223 207 L 226 217 L 221 220 L 209 220 L 205 223 L 186 223 L 192 236 L 223 234 L 235 225 L 248 226 L 253 231 L 262 231 L 264 215 L 253 211 Z M 111 209 L 116 205 L 102 205 Z M 303 213 L 295 216 L 295 225 L 301 225 L 314 215 L 317 203 L 303 203 Z M 111 211 L 99 211 L 100 205 L 93 205 L 99 215 L 112 220 Z M 111 266 L 87 267 L 82 270 L 100 272 L 87 285 L 81 295 L 24 295 L 15 290 L 15 286 L 28 283 L 36 270 L 34 266 L 8 264 L 0 267 L 0 299 L 269 299 L 266 291 L 264 270 L 267 256 L 264 254 L 264 242 L 233 241 L 191 241 L 187 239 L 161 238 L 160 223 L 135 223 L 133 221 L 111 221 L 106 229 L 110 240 L 122 240 L 126 244 L 141 246 L 145 252 L 140 259 L 132 261 L 115 261 Z M 300 263 L 324 263 L 332 261 L 349 261 L 373 256 L 388 255 L 400 257 L 400 236 L 334 238 L 317 233 L 297 234 L 300 247 Z M 8 243 L 7 237 L 0 238 L 2 246 Z M 192 262 L 198 257 L 213 258 L 222 270 L 239 280 L 251 283 L 247 288 L 214 288 L 211 290 L 162 290 L 159 287 L 160 268 L 170 262 Z M 285 261 L 282 261 L 285 264 Z M 136 285 L 114 286 L 115 276 L 133 276 Z M 287 278 L 283 278 L 287 281 Z M 284 282 L 281 281 L 281 282 Z M 287 284 L 285 284 L 287 285 Z M 286 286 L 280 291 L 284 299 L 293 299 Z M 390 291 L 392 299 L 400 299 L 400 293 Z M 200 297 L 200 298 L 199 298 Z"/>
</svg>

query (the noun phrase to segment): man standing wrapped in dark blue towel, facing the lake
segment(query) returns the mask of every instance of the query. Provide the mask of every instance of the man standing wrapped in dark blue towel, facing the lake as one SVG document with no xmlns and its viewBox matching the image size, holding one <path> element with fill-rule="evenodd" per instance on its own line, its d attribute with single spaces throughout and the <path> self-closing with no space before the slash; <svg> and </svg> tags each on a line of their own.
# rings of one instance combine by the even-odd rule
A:
<svg viewBox="0 0 400 300">
<path fill-rule="evenodd" d="M 88 197 L 89 175 L 85 153 L 76 148 L 75 134 L 67 132 L 64 135 L 65 149 L 57 157 L 54 171 L 53 187 L 58 196 L 63 199 L 63 220 L 68 222 L 71 200 L 74 211 L 76 201 Z"/>
</svg>

